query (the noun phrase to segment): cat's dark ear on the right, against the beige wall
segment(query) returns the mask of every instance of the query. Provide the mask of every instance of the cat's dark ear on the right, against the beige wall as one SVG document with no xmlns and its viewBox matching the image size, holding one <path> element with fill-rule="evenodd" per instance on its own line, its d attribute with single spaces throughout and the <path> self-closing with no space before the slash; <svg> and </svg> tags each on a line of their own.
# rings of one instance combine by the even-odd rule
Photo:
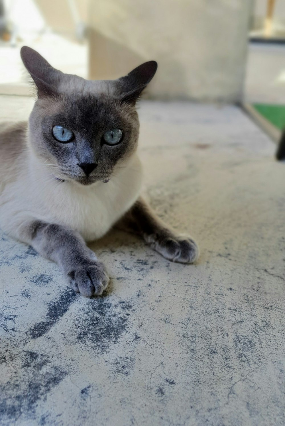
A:
<svg viewBox="0 0 285 426">
<path fill-rule="evenodd" d="M 128 75 L 118 78 L 120 99 L 135 104 L 141 92 L 155 75 L 156 70 L 157 62 L 150 60 L 137 66 Z"/>
</svg>

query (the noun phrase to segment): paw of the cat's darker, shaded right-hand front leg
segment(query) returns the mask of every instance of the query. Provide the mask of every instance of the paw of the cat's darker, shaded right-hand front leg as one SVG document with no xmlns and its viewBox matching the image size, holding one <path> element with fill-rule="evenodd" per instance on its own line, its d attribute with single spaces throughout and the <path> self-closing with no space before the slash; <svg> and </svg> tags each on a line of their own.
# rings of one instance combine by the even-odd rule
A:
<svg viewBox="0 0 285 426">
<path fill-rule="evenodd" d="M 199 248 L 189 236 L 155 233 L 144 237 L 151 248 L 172 262 L 193 263 L 199 257 Z"/>
</svg>

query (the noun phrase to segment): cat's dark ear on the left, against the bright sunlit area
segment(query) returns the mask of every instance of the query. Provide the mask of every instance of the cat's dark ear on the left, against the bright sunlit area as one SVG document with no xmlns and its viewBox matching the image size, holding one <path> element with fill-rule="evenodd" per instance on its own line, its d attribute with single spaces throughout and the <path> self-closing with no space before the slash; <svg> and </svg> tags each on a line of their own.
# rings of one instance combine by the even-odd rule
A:
<svg viewBox="0 0 285 426">
<path fill-rule="evenodd" d="M 21 58 L 26 69 L 37 86 L 38 96 L 50 96 L 56 92 L 63 73 L 53 68 L 39 53 L 31 47 L 23 46 Z"/>
</svg>

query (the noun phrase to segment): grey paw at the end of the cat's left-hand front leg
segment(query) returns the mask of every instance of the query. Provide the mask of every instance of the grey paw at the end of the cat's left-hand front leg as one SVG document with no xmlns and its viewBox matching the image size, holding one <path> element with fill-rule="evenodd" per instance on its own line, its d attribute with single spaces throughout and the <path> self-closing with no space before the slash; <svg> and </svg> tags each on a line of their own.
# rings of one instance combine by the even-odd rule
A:
<svg viewBox="0 0 285 426">
<path fill-rule="evenodd" d="M 105 265 L 98 261 L 76 266 L 67 273 L 67 279 L 69 287 L 86 297 L 102 294 L 109 282 Z"/>
</svg>

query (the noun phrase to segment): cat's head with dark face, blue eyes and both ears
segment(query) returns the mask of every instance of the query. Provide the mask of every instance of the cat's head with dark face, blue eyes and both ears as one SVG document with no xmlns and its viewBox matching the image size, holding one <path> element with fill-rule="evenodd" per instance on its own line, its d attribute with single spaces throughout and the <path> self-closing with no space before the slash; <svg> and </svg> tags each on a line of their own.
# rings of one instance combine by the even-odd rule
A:
<svg viewBox="0 0 285 426">
<path fill-rule="evenodd" d="M 136 150 L 135 102 L 157 63 L 145 62 L 117 80 L 91 81 L 58 71 L 27 46 L 21 58 L 37 87 L 29 143 L 38 164 L 61 180 L 108 181 Z"/>
</svg>

